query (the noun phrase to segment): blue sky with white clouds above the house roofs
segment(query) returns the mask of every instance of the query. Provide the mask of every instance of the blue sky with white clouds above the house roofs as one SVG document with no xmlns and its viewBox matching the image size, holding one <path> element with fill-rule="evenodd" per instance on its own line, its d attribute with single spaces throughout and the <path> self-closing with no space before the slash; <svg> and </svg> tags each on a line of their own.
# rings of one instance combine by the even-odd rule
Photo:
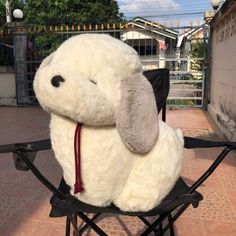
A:
<svg viewBox="0 0 236 236">
<path fill-rule="evenodd" d="M 128 19 L 142 16 L 161 24 L 181 26 L 203 23 L 203 12 L 212 9 L 210 0 L 118 0 L 118 4 Z"/>
</svg>

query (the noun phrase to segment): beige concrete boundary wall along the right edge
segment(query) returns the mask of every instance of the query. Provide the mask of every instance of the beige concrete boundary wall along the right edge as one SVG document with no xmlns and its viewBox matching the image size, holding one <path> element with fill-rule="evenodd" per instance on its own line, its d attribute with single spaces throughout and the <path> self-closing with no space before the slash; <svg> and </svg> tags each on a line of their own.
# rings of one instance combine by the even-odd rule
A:
<svg viewBox="0 0 236 236">
<path fill-rule="evenodd" d="M 208 110 L 229 140 L 236 140 L 236 3 L 213 25 Z"/>
</svg>

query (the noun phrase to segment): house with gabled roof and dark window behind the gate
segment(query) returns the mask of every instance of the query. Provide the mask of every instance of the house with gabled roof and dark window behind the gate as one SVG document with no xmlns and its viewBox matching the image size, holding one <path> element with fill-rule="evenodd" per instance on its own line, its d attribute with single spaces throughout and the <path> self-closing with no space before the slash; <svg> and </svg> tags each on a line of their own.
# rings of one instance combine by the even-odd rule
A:
<svg viewBox="0 0 236 236">
<path fill-rule="evenodd" d="M 166 58 L 175 57 L 178 31 L 136 17 L 121 32 L 121 40 L 132 46 L 149 68 L 171 67 Z"/>
</svg>

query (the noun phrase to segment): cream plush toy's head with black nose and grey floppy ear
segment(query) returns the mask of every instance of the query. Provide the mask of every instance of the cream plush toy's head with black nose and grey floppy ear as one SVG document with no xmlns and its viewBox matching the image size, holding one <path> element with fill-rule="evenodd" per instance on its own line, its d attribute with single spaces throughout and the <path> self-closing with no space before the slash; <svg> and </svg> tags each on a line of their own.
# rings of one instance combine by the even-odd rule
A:
<svg viewBox="0 0 236 236">
<path fill-rule="evenodd" d="M 66 40 L 45 58 L 34 80 L 49 113 L 88 126 L 116 125 L 132 151 L 150 151 L 158 137 L 153 89 L 136 51 L 109 35 Z"/>
</svg>

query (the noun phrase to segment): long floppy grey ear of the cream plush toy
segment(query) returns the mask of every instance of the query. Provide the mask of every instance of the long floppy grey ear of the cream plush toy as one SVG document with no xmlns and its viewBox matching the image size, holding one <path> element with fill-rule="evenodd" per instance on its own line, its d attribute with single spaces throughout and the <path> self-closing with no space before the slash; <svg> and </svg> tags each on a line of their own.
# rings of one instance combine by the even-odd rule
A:
<svg viewBox="0 0 236 236">
<path fill-rule="evenodd" d="M 153 89 L 142 73 L 121 81 L 116 126 L 123 143 L 134 152 L 146 153 L 155 145 L 158 112 Z"/>
</svg>

